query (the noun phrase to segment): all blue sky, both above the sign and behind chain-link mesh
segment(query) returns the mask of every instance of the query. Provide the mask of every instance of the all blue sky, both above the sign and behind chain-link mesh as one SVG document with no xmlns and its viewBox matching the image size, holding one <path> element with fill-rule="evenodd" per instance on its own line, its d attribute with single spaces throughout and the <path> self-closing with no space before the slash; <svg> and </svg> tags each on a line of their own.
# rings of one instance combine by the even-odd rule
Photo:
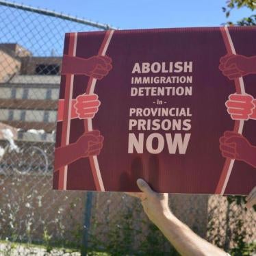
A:
<svg viewBox="0 0 256 256">
<path fill-rule="evenodd" d="M 253 14 L 251 10 L 242 8 L 233 10 L 227 19 L 222 12 L 225 2 L 226 0 L 16 0 L 16 3 L 107 23 L 119 29 L 220 26 L 228 20 L 238 21 Z M 37 56 L 61 56 L 66 32 L 97 30 L 95 27 L 2 5 L 0 21 L 0 42 L 18 42 Z"/>
</svg>

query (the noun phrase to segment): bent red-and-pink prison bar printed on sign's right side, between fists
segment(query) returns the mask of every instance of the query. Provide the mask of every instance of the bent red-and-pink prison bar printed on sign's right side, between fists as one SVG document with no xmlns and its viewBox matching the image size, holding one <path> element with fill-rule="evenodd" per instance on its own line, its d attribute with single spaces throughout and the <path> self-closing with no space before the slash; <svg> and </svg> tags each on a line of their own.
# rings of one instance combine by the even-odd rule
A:
<svg viewBox="0 0 256 256">
<path fill-rule="evenodd" d="M 220 31 L 222 34 L 222 38 L 225 42 L 225 47 L 227 49 L 228 55 L 231 55 L 231 54 L 235 55 L 236 54 L 235 47 L 233 45 L 231 36 L 229 34 L 228 27 L 220 27 Z M 231 79 L 234 79 L 236 92 L 238 94 L 246 94 L 244 89 L 244 80 L 242 79 L 242 74 L 240 77 L 232 76 Z M 243 127 L 244 127 L 244 120 L 235 120 L 233 131 L 235 133 L 242 134 Z M 218 181 L 218 185 L 216 187 L 216 191 L 215 191 L 216 194 L 225 193 L 234 162 L 235 162 L 235 159 L 226 158 L 225 164 L 222 168 L 220 179 Z"/>
</svg>

